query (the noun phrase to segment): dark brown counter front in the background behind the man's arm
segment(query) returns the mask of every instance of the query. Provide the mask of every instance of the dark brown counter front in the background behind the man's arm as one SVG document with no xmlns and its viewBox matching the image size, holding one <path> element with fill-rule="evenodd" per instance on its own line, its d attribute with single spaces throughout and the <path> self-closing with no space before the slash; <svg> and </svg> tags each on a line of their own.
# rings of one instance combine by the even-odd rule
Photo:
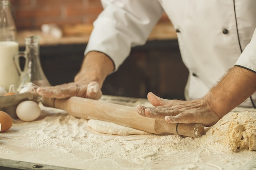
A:
<svg viewBox="0 0 256 170">
<path fill-rule="evenodd" d="M 43 71 L 52 85 L 73 81 L 85 47 L 86 44 L 40 46 Z M 184 99 L 187 76 L 177 40 L 148 41 L 132 48 L 119 70 L 106 78 L 102 91 L 104 95 L 139 98 L 146 98 L 151 91 L 167 99 Z"/>
</svg>

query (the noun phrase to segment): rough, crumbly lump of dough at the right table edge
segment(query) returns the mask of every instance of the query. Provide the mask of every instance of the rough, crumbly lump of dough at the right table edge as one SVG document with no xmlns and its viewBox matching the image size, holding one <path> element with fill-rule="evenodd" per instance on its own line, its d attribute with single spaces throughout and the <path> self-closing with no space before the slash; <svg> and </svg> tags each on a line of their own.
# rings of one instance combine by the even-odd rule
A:
<svg viewBox="0 0 256 170">
<path fill-rule="evenodd" d="M 230 112 L 206 132 L 206 137 L 223 150 L 256 150 L 256 112 Z"/>
</svg>

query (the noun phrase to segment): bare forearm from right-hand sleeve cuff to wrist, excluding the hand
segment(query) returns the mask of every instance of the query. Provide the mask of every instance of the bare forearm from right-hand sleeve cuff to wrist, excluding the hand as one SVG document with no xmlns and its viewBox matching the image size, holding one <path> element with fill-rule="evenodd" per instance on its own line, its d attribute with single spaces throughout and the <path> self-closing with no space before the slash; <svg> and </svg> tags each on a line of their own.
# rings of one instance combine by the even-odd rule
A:
<svg viewBox="0 0 256 170">
<path fill-rule="evenodd" d="M 234 66 L 204 97 L 220 118 L 256 91 L 256 73 Z"/>
</svg>

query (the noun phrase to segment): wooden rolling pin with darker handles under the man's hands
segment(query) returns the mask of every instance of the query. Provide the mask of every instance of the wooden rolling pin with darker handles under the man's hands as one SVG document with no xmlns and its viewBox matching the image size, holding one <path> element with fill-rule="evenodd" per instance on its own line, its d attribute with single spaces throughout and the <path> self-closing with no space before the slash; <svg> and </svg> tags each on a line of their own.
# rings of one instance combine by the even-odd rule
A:
<svg viewBox="0 0 256 170">
<path fill-rule="evenodd" d="M 140 116 L 135 107 L 104 101 L 75 96 L 69 99 L 43 97 L 42 104 L 65 110 L 67 114 L 75 117 L 108 121 L 154 134 L 178 134 L 194 138 L 204 134 L 202 124 L 169 124 L 164 120 Z"/>
</svg>

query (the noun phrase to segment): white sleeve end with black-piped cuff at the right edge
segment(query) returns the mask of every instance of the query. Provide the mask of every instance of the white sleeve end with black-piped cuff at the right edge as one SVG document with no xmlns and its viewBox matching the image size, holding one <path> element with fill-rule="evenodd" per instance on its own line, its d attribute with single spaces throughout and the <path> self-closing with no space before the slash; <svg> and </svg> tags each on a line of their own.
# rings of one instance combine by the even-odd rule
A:
<svg viewBox="0 0 256 170">
<path fill-rule="evenodd" d="M 256 72 L 256 29 L 252 35 L 251 42 L 247 44 L 235 65 Z"/>
</svg>

